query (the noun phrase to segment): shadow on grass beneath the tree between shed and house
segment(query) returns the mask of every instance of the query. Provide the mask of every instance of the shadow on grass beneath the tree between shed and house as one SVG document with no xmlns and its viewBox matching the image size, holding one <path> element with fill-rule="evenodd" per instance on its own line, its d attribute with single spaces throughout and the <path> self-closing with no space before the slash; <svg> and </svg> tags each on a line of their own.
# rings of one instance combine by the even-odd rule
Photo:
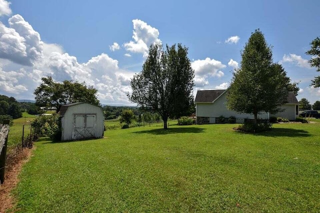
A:
<svg viewBox="0 0 320 213">
<path fill-rule="evenodd" d="M 176 133 L 201 133 L 203 128 L 196 127 L 184 127 L 184 128 L 168 128 L 168 129 L 152 129 L 152 130 L 143 130 L 133 132 L 136 134 L 152 134 L 152 135 L 167 135 L 167 134 L 176 134 Z"/>
</svg>

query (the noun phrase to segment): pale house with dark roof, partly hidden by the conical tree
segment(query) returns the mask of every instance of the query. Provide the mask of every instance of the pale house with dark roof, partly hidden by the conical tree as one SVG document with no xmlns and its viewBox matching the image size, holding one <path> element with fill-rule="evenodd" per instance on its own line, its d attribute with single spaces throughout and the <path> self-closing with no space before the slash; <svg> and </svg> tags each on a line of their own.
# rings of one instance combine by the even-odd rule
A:
<svg viewBox="0 0 320 213">
<path fill-rule="evenodd" d="M 196 123 L 197 124 L 214 124 L 216 118 L 223 116 L 229 118 L 234 116 L 236 123 L 244 123 L 245 119 L 254 119 L 253 114 L 238 113 L 226 108 L 226 91 L 227 90 L 199 90 L 195 96 Z M 282 117 L 288 120 L 295 120 L 298 116 L 299 103 L 293 92 L 289 92 L 287 103 L 282 105 L 282 112 L 270 114 L 261 112 L 258 119 L 268 120 L 269 117 Z"/>
</svg>

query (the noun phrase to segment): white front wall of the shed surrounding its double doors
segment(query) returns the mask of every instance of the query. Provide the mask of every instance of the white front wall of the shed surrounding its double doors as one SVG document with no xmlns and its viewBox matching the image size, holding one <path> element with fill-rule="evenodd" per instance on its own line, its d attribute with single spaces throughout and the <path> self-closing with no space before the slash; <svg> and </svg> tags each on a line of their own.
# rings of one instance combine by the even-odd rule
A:
<svg viewBox="0 0 320 213">
<path fill-rule="evenodd" d="M 88 103 L 80 103 L 69 106 L 61 118 L 62 135 L 61 140 L 72 140 L 73 115 L 74 114 L 95 114 L 95 137 L 103 136 L 104 115 L 100 107 Z"/>
</svg>

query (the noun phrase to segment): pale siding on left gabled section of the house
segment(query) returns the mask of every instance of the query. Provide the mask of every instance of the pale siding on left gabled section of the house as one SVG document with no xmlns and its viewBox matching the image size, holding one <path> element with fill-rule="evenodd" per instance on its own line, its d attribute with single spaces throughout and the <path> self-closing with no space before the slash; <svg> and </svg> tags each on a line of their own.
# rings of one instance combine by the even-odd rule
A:
<svg viewBox="0 0 320 213">
<path fill-rule="evenodd" d="M 226 108 L 226 93 L 223 93 L 215 102 L 213 103 L 196 103 L 196 117 L 209 117 L 210 121 L 212 118 L 218 118 L 221 115 L 225 118 L 234 116 L 237 123 L 243 123 L 244 119 L 254 119 L 253 114 L 237 113 L 235 111 L 230 111 Z M 262 113 L 258 114 L 258 119 L 267 120 L 268 114 Z M 210 122 L 211 123 L 211 122 Z"/>
</svg>

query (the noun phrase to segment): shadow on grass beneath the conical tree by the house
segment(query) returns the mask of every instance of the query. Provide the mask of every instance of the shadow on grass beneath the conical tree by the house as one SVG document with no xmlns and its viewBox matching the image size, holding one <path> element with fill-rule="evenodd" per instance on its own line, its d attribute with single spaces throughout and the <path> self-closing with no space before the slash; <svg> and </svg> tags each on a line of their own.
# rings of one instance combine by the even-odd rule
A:
<svg viewBox="0 0 320 213">
<path fill-rule="evenodd" d="M 244 133 L 237 131 L 238 134 L 252 134 L 254 136 L 266 137 L 311 137 L 312 135 L 302 129 L 288 129 L 288 128 L 272 128 L 270 131 L 259 133 Z"/>
</svg>

